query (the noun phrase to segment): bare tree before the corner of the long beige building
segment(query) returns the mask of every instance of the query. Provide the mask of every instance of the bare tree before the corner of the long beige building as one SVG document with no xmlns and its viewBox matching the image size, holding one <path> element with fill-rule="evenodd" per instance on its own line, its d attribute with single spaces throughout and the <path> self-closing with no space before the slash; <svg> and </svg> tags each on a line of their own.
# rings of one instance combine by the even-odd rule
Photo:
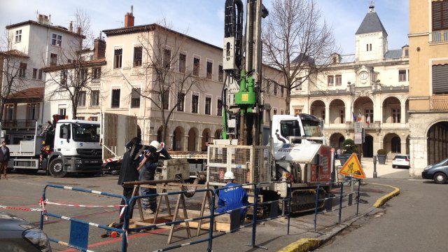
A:
<svg viewBox="0 0 448 252">
<path fill-rule="evenodd" d="M 184 98 L 192 90 L 201 90 L 204 80 L 200 76 L 200 65 L 189 66 L 186 60 L 188 36 L 169 29 L 166 20 L 147 27 L 147 33 L 139 36 L 143 55 L 142 71 L 137 79 L 145 80 L 145 87 L 139 92 L 141 97 L 151 101 L 153 108 L 160 111 L 162 121 L 162 141 L 167 140 L 167 127 L 174 111 L 184 111 Z M 148 36 L 148 34 L 152 36 Z M 134 66 L 136 60 L 134 59 Z M 127 84 L 133 88 L 133 80 L 123 75 Z M 132 92 L 137 92 L 133 89 Z M 132 95 L 132 94 L 131 94 Z M 169 102 L 169 97 L 174 97 Z"/>
</svg>

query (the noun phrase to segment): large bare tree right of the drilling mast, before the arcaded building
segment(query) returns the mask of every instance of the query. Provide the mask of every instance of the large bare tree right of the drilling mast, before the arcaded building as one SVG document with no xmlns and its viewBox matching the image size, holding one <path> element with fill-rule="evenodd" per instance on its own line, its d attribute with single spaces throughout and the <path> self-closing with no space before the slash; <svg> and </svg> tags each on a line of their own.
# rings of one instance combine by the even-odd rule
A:
<svg viewBox="0 0 448 252">
<path fill-rule="evenodd" d="M 315 0 L 273 0 L 263 27 L 264 62 L 281 71 L 286 90 L 286 114 L 291 91 L 328 70 L 335 39 Z"/>
</svg>

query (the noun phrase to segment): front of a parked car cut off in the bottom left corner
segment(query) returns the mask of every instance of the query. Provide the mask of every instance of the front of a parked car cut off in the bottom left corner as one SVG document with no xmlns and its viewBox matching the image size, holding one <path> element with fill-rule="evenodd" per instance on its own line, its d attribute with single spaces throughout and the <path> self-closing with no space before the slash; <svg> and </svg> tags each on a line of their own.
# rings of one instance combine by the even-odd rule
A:
<svg viewBox="0 0 448 252">
<path fill-rule="evenodd" d="M 0 251 L 50 252 L 45 233 L 24 219 L 0 211 Z"/>
</svg>

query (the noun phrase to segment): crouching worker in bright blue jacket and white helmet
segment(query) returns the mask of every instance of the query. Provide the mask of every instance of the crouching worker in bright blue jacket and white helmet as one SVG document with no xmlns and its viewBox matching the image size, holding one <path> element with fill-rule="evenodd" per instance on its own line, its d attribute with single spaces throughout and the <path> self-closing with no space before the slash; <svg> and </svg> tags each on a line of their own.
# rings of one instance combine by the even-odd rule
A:
<svg viewBox="0 0 448 252">
<path fill-rule="evenodd" d="M 227 184 L 224 186 L 225 189 L 219 191 L 218 209 L 216 209 L 216 213 L 247 206 L 249 202 L 247 200 L 246 190 L 237 183 L 233 183 L 235 181 L 235 174 L 231 171 L 225 172 L 224 181 Z M 246 211 L 247 209 L 241 209 L 241 217 L 246 214 Z"/>
</svg>

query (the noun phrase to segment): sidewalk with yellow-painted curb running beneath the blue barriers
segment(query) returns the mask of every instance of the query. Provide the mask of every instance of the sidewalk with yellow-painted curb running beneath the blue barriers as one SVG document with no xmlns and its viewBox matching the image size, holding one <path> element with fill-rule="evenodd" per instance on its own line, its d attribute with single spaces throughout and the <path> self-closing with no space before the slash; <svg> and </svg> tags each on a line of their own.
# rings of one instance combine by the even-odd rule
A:
<svg viewBox="0 0 448 252">
<path fill-rule="evenodd" d="M 387 165 L 384 165 L 387 166 Z M 378 168 L 378 167 L 377 167 Z M 392 168 L 391 168 L 392 169 Z M 386 169 L 384 169 L 386 170 Z M 406 170 L 407 171 L 407 170 Z M 287 219 L 280 218 L 266 221 L 257 225 L 256 246 L 265 246 L 269 251 L 312 251 L 325 241 L 334 237 L 339 232 L 349 227 L 360 218 L 377 214 L 382 211 L 378 206 L 384 204 L 391 197 L 398 195 L 400 190 L 392 186 L 381 185 L 375 179 L 365 179 L 360 186 L 360 204 L 358 216 L 356 216 L 356 201 L 346 207 L 346 198 L 343 201 L 342 221 L 339 224 L 339 200 L 333 202 L 333 211 L 318 214 L 316 232 L 314 231 L 314 212 L 307 214 L 295 214 L 290 218 L 290 233 L 287 235 Z M 357 189 L 357 185 L 355 187 Z M 344 192 L 346 189 L 344 189 Z M 337 194 L 338 188 L 333 190 Z M 377 204 L 377 206 L 374 206 Z M 251 228 L 243 228 L 230 234 L 230 237 L 214 239 L 214 251 L 265 251 L 263 248 L 251 248 L 241 244 L 251 243 Z M 232 242 L 229 242 L 232 241 Z M 289 244 L 289 245 L 288 245 Z M 225 248 L 225 249 L 224 249 Z M 183 250 L 182 250 L 183 251 Z"/>
</svg>

